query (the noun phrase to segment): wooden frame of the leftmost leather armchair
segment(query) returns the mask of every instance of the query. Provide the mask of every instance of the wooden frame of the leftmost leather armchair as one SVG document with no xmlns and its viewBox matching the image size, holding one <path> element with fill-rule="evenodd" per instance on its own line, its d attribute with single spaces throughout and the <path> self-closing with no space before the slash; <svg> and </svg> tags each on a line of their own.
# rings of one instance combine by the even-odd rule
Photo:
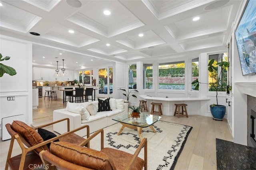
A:
<svg viewBox="0 0 256 170">
<path fill-rule="evenodd" d="M 17 132 L 15 132 L 13 129 L 12 129 L 12 127 L 11 127 L 11 125 L 8 123 L 8 124 L 6 124 L 6 128 L 7 128 L 7 130 L 8 130 L 8 132 L 10 133 L 10 135 L 11 135 L 11 141 L 10 141 L 10 147 L 9 147 L 9 151 L 8 151 L 8 155 L 7 155 L 7 158 L 6 158 L 6 165 L 5 165 L 5 170 L 8 170 L 8 167 L 10 166 L 10 168 L 11 169 L 14 169 L 14 170 L 23 170 L 24 169 L 24 164 L 25 164 L 25 161 L 28 161 L 28 162 L 31 162 L 31 164 L 34 164 L 33 162 L 35 162 L 35 160 L 36 160 L 36 157 L 34 157 L 34 160 L 26 160 L 26 156 L 27 156 L 27 154 L 28 154 L 28 152 L 35 152 L 36 154 L 34 154 L 35 156 L 38 156 L 38 153 L 34 150 L 34 149 L 36 149 L 36 148 L 38 148 L 38 147 L 42 147 L 43 145 L 46 145 L 47 143 L 50 143 L 51 141 L 55 141 L 56 139 L 60 139 L 60 138 L 62 138 L 62 137 L 64 137 L 64 136 L 67 136 L 67 135 L 70 135 L 70 134 L 72 134 L 72 133 L 74 133 L 74 132 L 76 132 L 76 131 L 79 131 L 79 130 L 81 130 L 81 129 L 84 129 L 84 128 L 86 128 L 86 135 L 87 135 L 87 137 L 89 137 L 89 135 L 90 135 L 90 129 L 89 129 L 89 126 L 88 125 L 84 125 L 84 126 L 82 126 L 82 127 L 79 127 L 79 128 L 77 128 L 77 129 L 74 129 L 74 130 L 72 130 L 72 131 L 70 131 L 70 121 L 69 121 L 69 118 L 65 118 L 65 119 L 60 119 L 60 120 L 58 120 L 58 121 L 54 121 L 54 122 L 51 122 L 51 123 L 47 123 L 47 124 L 45 124 L 45 125 L 41 125 L 41 126 L 38 126 L 38 127 L 35 127 L 34 129 L 36 130 L 36 129 L 38 129 L 38 128 L 43 128 L 43 127 L 47 127 L 47 126 L 49 126 L 49 125 L 53 125 L 53 124 L 55 124 L 55 123 L 59 123 L 59 122 L 61 122 L 61 121 L 67 121 L 67 132 L 66 133 L 63 133 L 63 134 L 61 134 L 61 135 L 58 135 L 57 137 L 54 137 L 54 138 L 52 138 L 52 139 L 49 139 L 49 140 L 47 140 L 47 141 L 44 141 L 44 142 L 42 142 L 42 143 L 39 143 L 39 144 L 36 144 L 36 145 L 34 145 L 34 146 L 30 146 L 30 144 L 19 134 L 19 133 L 17 133 Z M 21 154 L 19 154 L 19 155 L 17 155 L 17 158 L 19 158 L 20 159 L 20 165 L 19 165 L 19 167 L 14 167 L 14 166 L 12 166 L 12 162 L 11 162 L 11 156 L 12 156 L 12 149 L 13 149 L 13 145 L 14 145 L 14 140 L 17 140 L 17 142 L 18 142 L 18 144 L 19 144 L 19 146 L 20 146 L 20 148 L 21 148 L 21 150 L 22 150 L 22 153 Z M 26 147 L 25 147 L 25 146 Z M 82 142 L 82 143 L 80 143 L 79 144 L 80 146 L 86 146 L 86 147 L 90 147 L 90 143 L 89 143 L 89 141 L 88 142 Z M 15 156 L 14 156 L 15 157 Z M 39 157 L 39 156 L 38 156 Z M 40 158 L 40 157 L 39 157 Z M 42 163 L 42 162 L 41 162 Z"/>
</svg>

